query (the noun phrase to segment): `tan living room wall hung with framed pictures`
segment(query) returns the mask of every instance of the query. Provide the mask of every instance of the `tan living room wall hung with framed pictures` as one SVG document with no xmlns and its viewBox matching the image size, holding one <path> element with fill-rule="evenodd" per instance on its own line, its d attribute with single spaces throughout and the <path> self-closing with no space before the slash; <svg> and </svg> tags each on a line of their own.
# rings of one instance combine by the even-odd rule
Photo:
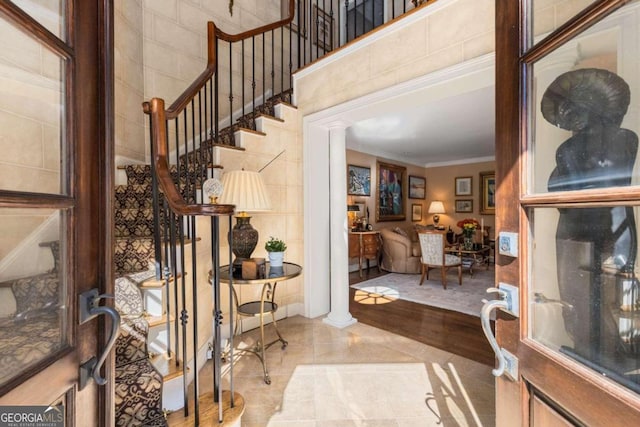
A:
<svg viewBox="0 0 640 427">
<path fill-rule="evenodd" d="M 405 221 L 383 221 L 376 223 L 376 181 L 378 176 L 376 169 L 377 161 L 404 166 L 407 168 L 407 176 L 422 176 L 427 180 L 427 191 L 425 200 L 407 198 L 405 205 L 407 219 Z M 495 215 L 480 214 L 480 172 L 495 171 L 495 161 L 423 168 L 403 162 L 397 162 L 395 160 L 388 160 L 369 154 L 360 153 L 358 151 L 347 150 L 347 164 L 371 168 L 371 196 L 347 196 L 347 203 L 366 203 L 370 212 L 370 222 L 371 224 L 373 224 L 375 230 L 379 230 L 382 228 L 404 227 L 412 224 L 433 224 L 433 215 L 427 213 L 429 204 L 433 200 L 441 200 L 442 202 L 444 202 L 444 207 L 447 211 L 446 214 L 440 215 L 441 225 L 444 225 L 445 227 L 451 226 L 451 228 L 456 233 L 459 233 L 460 229 L 456 226 L 456 223 L 458 221 L 464 218 L 475 218 L 479 222 L 484 222 L 484 225 L 486 227 L 491 227 L 491 236 L 494 235 Z M 467 176 L 472 177 L 471 196 L 456 196 L 454 187 L 455 178 Z M 405 186 L 406 185 L 407 182 L 405 180 Z M 456 213 L 454 204 L 456 199 L 472 200 L 473 212 Z M 413 204 L 422 205 L 422 221 L 411 221 L 411 205 Z"/>
</svg>

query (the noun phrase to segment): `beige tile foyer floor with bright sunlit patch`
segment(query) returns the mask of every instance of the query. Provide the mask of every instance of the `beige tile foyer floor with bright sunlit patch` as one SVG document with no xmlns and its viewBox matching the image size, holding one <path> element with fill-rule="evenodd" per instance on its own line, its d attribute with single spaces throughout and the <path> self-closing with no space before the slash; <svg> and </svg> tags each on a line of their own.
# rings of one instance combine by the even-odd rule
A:
<svg viewBox="0 0 640 427">
<path fill-rule="evenodd" d="M 322 318 L 295 316 L 278 326 L 289 345 L 267 351 L 271 385 L 257 357 L 236 355 L 235 391 L 246 402 L 242 426 L 495 425 L 487 365 L 361 323 L 337 329 Z M 275 333 L 267 331 L 270 342 Z M 258 336 L 249 331 L 235 344 L 251 345 Z M 201 371 L 201 394 L 211 391 L 211 372 L 210 363 Z"/>
</svg>

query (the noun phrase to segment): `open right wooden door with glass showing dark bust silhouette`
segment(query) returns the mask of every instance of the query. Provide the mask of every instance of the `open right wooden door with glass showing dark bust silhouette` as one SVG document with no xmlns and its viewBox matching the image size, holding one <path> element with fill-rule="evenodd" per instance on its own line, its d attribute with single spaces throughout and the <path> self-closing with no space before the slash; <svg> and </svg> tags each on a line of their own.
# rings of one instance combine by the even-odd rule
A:
<svg viewBox="0 0 640 427">
<path fill-rule="evenodd" d="M 640 425 L 640 2 L 496 12 L 497 424 Z"/>
</svg>

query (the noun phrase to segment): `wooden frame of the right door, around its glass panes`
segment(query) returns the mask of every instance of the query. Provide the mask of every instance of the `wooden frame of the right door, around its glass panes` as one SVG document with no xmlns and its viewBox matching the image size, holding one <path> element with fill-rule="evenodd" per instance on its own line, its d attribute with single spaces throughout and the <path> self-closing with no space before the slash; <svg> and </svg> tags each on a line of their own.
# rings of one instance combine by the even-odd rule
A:
<svg viewBox="0 0 640 427">
<path fill-rule="evenodd" d="M 496 197 L 499 201 L 496 228 L 497 231 L 520 234 L 518 258 L 497 254 L 496 281 L 514 284 L 521 289 L 521 317 L 500 313 L 496 321 L 500 346 L 520 360 L 518 382 L 504 377 L 496 380 L 496 424 L 514 425 L 514 420 L 519 420 L 520 425 L 529 425 L 531 396 L 523 378 L 535 382 L 539 391 L 557 403 L 560 412 L 567 411 L 587 425 L 640 424 L 638 399 L 632 392 L 612 385 L 584 366 L 565 363 L 566 360 L 559 355 L 527 339 L 528 303 L 524 297 L 527 286 L 523 283 L 528 268 L 527 204 L 522 203 L 523 164 L 527 161 L 527 120 L 524 112 L 528 102 L 526 79 L 529 72 L 525 64 L 549 53 L 584 30 L 585 26 L 622 7 L 626 1 L 603 0 L 592 4 L 521 55 L 524 46 L 521 40 L 526 36 L 525 3 L 526 0 L 496 2 L 496 81 L 500 82 L 496 85 Z M 633 191 L 630 189 L 630 193 Z M 542 198 L 538 202 L 543 202 Z M 544 369 L 540 370 L 540 366 Z M 571 392 L 563 394 L 563 390 Z M 597 398 L 597 404 L 585 405 L 594 398 Z"/>
</svg>

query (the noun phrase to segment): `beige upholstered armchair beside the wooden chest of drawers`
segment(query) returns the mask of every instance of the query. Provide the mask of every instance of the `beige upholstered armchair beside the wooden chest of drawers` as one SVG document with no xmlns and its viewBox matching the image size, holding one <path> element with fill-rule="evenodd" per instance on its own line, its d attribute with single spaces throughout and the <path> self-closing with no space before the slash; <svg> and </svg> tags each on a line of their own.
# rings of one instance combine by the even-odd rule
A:
<svg viewBox="0 0 640 427">
<path fill-rule="evenodd" d="M 396 228 L 380 230 L 382 237 L 382 269 L 392 273 L 420 272 L 420 244 L 416 233 Z"/>
</svg>

